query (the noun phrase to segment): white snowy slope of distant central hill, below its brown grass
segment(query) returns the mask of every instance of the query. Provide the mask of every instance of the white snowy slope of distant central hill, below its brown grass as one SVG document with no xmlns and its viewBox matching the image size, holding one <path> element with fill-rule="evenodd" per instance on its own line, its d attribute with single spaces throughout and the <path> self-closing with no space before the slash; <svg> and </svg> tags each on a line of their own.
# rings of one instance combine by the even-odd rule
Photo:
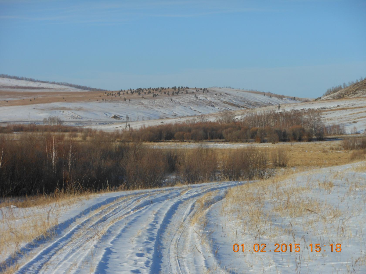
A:
<svg viewBox="0 0 366 274">
<path fill-rule="evenodd" d="M 100 92 L 100 94 L 104 95 L 104 92 Z M 192 93 L 192 90 L 189 89 L 188 94 L 174 96 L 158 94 L 156 98 L 149 94 L 145 95 L 147 97 L 145 99 L 135 94 L 124 97 L 127 99 L 126 102 L 123 100 L 123 96 L 122 99 L 105 96 L 104 101 L 101 97 L 95 97 L 91 100 L 86 97 L 85 100 L 78 102 L 53 102 L 21 106 L 6 106 L 4 104 L 0 107 L 0 122 L 41 122 L 45 117 L 57 116 L 66 122 L 90 125 L 87 122 L 118 121 L 111 118 L 113 115 L 124 118 L 128 114 L 131 121 L 146 121 L 299 102 L 290 98 L 276 98 L 268 96 L 268 94 L 263 95 L 229 88 L 210 88 L 208 93 L 202 93 L 202 91 Z M 129 98 L 131 98 L 130 101 Z"/>
</svg>

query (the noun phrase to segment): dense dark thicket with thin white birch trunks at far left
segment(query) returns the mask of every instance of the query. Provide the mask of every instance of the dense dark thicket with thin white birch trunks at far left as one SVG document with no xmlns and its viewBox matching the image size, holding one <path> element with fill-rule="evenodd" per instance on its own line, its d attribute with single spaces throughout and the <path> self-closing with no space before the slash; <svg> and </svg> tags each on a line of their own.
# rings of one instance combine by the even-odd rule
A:
<svg viewBox="0 0 366 274">
<path fill-rule="evenodd" d="M 163 151 L 106 142 L 105 135 L 95 133 L 90 142 L 51 133 L 0 139 L 0 195 L 161 186 L 167 172 Z"/>
</svg>

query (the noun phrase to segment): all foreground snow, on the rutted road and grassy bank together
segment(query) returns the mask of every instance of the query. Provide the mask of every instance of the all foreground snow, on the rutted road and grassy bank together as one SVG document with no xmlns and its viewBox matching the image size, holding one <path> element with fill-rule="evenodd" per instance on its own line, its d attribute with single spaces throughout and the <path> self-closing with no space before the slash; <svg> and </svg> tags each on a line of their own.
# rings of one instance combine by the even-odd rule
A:
<svg viewBox="0 0 366 274">
<path fill-rule="evenodd" d="M 22 267 L 17 273 L 207 273 L 208 270 L 214 273 L 289 273 L 298 270 L 299 262 L 302 273 L 345 273 L 352 269 L 361 273 L 365 271 L 365 255 L 362 254 L 366 251 L 363 230 L 366 172 L 358 171 L 358 166 L 349 164 L 314 170 L 310 174 L 304 172 L 277 184 L 284 189 L 313 184 L 314 189 L 301 195 L 336 207 L 340 212 L 337 216 L 326 216 L 331 224 L 316 222 L 320 218 L 316 214 L 296 218 L 278 216 L 271 210 L 269 193 L 264 193 L 271 225 L 285 231 L 292 224 L 294 233 L 279 233 L 273 238 L 243 232 L 244 220 L 235 213 L 224 213 L 227 190 L 248 182 L 96 195 L 71 207 L 64 206 L 52 239 L 24 244 L 18 260 Z M 330 193 L 317 187 L 318 182 L 326 180 L 334 183 Z M 191 219 L 197 212 L 197 200 L 205 194 L 210 197 L 204 210 L 206 226 L 193 224 Z M 231 206 L 234 209 L 236 205 Z M 46 214 L 49 209 L 38 210 Z M 0 217 L 11 211 L 19 216 L 18 221 L 26 219 L 31 212 L 30 209 L 3 208 Z M 246 247 L 266 243 L 267 250 L 277 242 L 300 243 L 301 251 L 235 253 L 232 246 L 236 242 Z M 319 253 L 308 252 L 306 248 L 310 243 L 333 242 L 342 244 L 341 252 L 330 252 L 329 246 L 326 252 Z M 15 263 L 10 253 L 3 254 L 1 260 L 6 258 L 8 263 Z"/>
</svg>

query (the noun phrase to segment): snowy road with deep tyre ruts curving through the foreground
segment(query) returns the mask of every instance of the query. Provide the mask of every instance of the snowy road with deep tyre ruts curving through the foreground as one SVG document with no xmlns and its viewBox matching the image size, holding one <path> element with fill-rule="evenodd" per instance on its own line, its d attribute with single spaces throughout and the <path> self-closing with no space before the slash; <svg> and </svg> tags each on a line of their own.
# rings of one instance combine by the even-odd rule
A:
<svg viewBox="0 0 366 274">
<path fill-rule="evenodd" d="M 189 221 L 195 203 L 205 194 L 216 203 L 238 184 L 243 182 L 117 196 L 66 220 L 72 225 L 62 229 L 61 224 L 18 273 L 202 273 L 205 258 L 214 254 L 199 251 L 200 235 Z"/>
</svg>

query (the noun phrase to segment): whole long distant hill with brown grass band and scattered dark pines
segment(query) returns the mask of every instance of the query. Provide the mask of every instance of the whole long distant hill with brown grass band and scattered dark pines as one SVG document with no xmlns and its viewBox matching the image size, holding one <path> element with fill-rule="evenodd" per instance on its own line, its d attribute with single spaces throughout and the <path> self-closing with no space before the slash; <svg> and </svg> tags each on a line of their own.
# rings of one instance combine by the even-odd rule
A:
<svg viewBox="0 0 366 274">
<path fill-rule="evenodd" d="M 96 125 L 120 122 L 118 118 L 126 114 L 131 121 L 150 121 L 299 102 L 294 97 L 232 88 L 160 90 L 83 91 L 0 78 L 0 122 L 41 123 L 44 118 L 56 116 L 72 125 Z"/>
</svg>

